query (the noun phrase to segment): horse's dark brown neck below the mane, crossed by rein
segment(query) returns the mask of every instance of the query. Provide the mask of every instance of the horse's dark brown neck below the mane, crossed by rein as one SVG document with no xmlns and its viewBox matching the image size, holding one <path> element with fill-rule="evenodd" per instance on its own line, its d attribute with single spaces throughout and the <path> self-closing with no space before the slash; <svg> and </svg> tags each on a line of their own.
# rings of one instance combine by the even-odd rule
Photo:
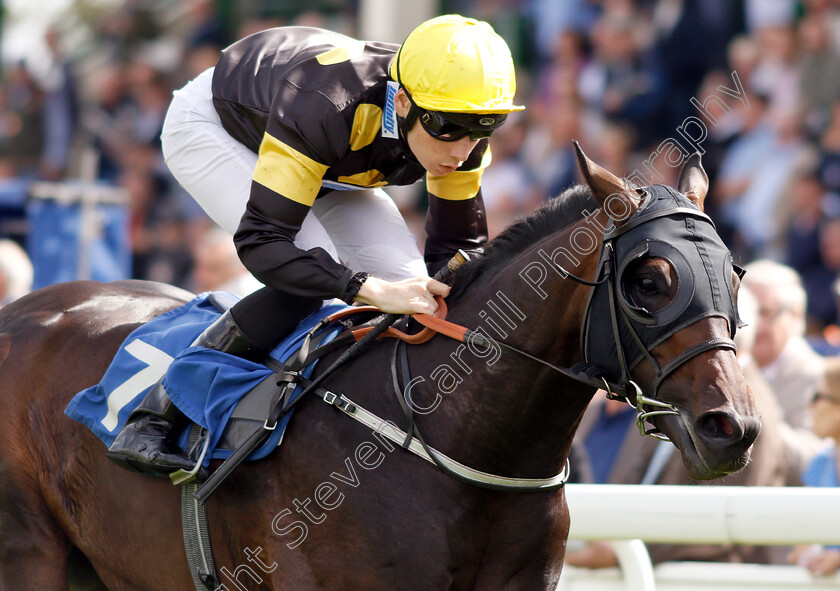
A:
<svg viewBox="0 0 840 591">
<path fill-rule="evenodd" d="M 571 367 L 579 361 L 589 288 L 564 278 L 549 259 L 553 255 L 570 272 L 590 278 L 597 259 L 595 248 L 578 253 L 576 265 L 565 261 L 558 249 L 568 245 L 572 229 L 535 245 L 493 277 L 476 281 L 469 294 L 453 302 L 450 318 L 549 363 Z M 531 476 L 562 466 L 592 388 L 515 353 L 462 351 L 458 359 L 468 358 L 473 367 L 449 395 L 457 402 L 441 407 L 453 415 L 456 427 L 450 437 L 459 448 L 476 461 Z M 452 354 L 438 361 L 457 371 Z"/>
</svg>

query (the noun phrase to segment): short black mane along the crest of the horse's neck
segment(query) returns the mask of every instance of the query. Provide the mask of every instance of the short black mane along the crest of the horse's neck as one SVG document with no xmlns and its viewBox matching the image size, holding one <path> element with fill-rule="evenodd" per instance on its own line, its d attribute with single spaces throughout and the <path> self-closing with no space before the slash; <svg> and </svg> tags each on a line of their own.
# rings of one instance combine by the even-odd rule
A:
<svg viewBox="0 0 840 591">
<path fill-rule="evenodd" d="M 583 211 L 594 211 L 598 203 L 586 185 L 575 185 L 547 201 L 531 215 L 505 228 L 484 247 L 484 254 L 468 262 L 452 276 L 450 298 L 457 298 L 479 276 L 493 273 L 507 261 L 583 217 Z"/>
</svg>

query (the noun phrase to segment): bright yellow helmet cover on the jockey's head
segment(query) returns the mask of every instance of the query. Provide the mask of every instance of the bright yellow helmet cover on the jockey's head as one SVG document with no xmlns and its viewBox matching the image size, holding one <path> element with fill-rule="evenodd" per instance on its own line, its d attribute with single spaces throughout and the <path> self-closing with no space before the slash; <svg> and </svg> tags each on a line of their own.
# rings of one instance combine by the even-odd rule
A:
<svg viewBox="0 0 840 591">
<path fill-rule="evenodd" d="M 505 40 L 483 21 L 449 14 L 414 29 L 391 62 L 391 78 L 429 111 L 510 113 L 516 75 Z"/>
</svg>

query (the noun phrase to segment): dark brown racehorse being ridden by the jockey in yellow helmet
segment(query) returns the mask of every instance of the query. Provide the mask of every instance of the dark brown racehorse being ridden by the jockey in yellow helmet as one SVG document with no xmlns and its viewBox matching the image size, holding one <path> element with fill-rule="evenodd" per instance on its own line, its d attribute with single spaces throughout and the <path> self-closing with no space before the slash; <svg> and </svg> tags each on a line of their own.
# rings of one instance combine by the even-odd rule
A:
<svg viewBox="0 0 840 591">
<path fill-rule="evenodd" d="M 417 433 L 476 470 L 545 479 L 564 472 L 603 384 L 638 406 L 640 425 L 653 426 L 646 431 L 674 442 L 692 477 L 737 471 L 760 421 L 729 345 L 736 319 L 714 310 L 689 318 L 691 305 L 679 300 L 711 282 L 734 306 L 738 273 L 731 264 L 715 267 L 716 279 L 686 271 L 680 253 L 697 251 L 696 237 L 667 250 L 655 236 L 674 216 L 645 214 L 660 189 L 630 186 L 579 148 L 578 158 L 585 183 L 514 223 L 452 277 L 448 321 L 484 340 L 436 335 L 404 348 L 407 373 L 397 378 Z M 681 227 L 702 222 L 707 188 L 699 156 L 687 159 Z M 606 264 L 621 250 L 615 237 L 634 227 L 654 238 L 641 249 L 628 244 L 635 254 L 626 264 Z M 599 290 L 610 297 L 593 297 Z M 0 590 L 59 591 L 73 581 L 110 591 L 193 588 L 178 491 L 108 461 L 102 443 L 63 414 L 132 330 L 191 297 L 152 282 L 79 281 L 0 311 Z M 602 309 L 599 298 L 619 304 Z M 635 345 L 624 334 L 633 318 Z M 672 329 L 657 333 L 662 322 L 651 318 Z M 619 340 L 599 341 L 602 326 Z M 326 383 L 404 427 L 392 342 L 375 342 Z M 606 373 L 569 369 L 608 350 L 620 363 Z M 475 486 L 379 435 L 315 398 L 298 404 L 283 444 L 239 466 L 207 501 L 216 588 L 554 589 L 569 530 L 562 486 Z"/>
</svg>

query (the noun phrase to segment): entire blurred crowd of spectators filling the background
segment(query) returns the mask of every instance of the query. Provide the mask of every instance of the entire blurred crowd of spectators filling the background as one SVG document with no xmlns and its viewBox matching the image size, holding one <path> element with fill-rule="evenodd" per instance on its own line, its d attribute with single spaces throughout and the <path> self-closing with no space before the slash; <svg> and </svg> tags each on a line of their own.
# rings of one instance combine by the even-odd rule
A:
<svg viewBox="0 0 840 591">
<path fill-rule="evenodd" d="M 196 292 L 244 294 L 259 286 L 232 242 L 167 171 L 159 136 L 171 93 L 214 65 L 223 47 L 266 27 L 306 24 L 356 36 L 357 3 L 330 14 L 302 8 L 243 18 L 237 26 L 219 14 L 224 4 L 189 0 L 162 13 L 152 2 L 125 0 L 90 25 L 95 51 L 79 55 L 71 31 L 56 24 L 45 39 L 48 67 L 36 75 L 26 61 L 7 65 L 0 81 L 0 305 L 24 293 L 32 277 L 17 248 L 25 229 L 4 209 L 3 183 L 72 178 L 84 150 L 97 156 L 97 180 L 129 196 L 133 277 Z M 755 461 L 724 484 L 837 486 L 840 2 L 448 0 L 440 9 L 491 22 L 517 62 L 517 99 L 527 109 L 492 136 L 482 186 L 492 235 L 577 181 L 573 139 L 637 184 L 675 184 L 682 159 L 703 154 L 711 181 L 706 210 L 748 269 L 741 307 L 751 327 L 740 337 L 739 359 L 764 421 Z M 422 247 L 423 188 L 386 190 Z M 609 441 L 615 447 L 584 464 L 586 478 L 687 482 L 673 448 L 653 440 L 642 440 L 648 447 L 634 459 L 617 459 L 629 445 L 624 426 L 634 431 L 626 408 L 597 402 L 588 411 L 576 442 L 581 455 Z M 814 478 L 826 457 L 829 465 L 834 460 L 833 477 Z M 616 466 L 625 472 L 613 473 Z M 570 563 L 613 563 L 601 550 L 588 546 L 570 554 Z M 653 553 L 658 560 L 822 560 L 823 571 L 840 565 L 836 550 L 808 550 Z"/>
</svg>

